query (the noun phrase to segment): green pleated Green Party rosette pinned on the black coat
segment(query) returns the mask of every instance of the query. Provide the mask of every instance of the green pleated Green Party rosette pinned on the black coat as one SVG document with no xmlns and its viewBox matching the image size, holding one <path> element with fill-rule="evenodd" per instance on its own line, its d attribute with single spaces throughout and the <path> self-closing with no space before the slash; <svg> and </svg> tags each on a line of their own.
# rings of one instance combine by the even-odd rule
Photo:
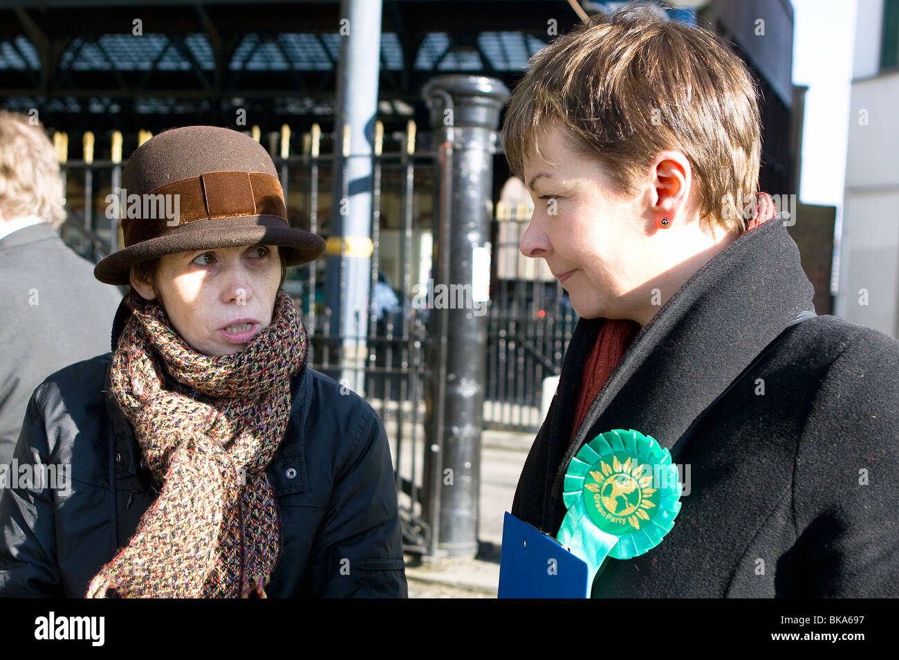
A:
<svg viewBox="0 0 899 660">
<path fill-rule="evenodd" d="M 682 490 L 671 454 L 652 436 L 601 433 L 568 465 L 568 511 L 556 540 L 587 563 L 592 584 L 606 557 L 638 557 L 662 542 L 681 511 Z"/>
</svg>

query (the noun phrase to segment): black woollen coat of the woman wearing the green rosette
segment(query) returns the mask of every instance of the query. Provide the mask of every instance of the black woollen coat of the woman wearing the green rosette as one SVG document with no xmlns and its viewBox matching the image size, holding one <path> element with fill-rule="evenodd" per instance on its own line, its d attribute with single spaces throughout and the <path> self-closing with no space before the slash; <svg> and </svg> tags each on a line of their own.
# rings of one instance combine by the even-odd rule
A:
<svg viewBox="0 0 899 660">
<path fill-rule="evenodd" d="M 689 488 L 594 597 L 899 595 L 899 342 L 837 317 L 788 326 L 812 295 L 782 222 L 743 234 L 640 331 L 569 446 L 603 319 L 578 323 L 512 513 L 555 536 L 571 457 L 618 428 L 671 450 Z"/>
</svg>

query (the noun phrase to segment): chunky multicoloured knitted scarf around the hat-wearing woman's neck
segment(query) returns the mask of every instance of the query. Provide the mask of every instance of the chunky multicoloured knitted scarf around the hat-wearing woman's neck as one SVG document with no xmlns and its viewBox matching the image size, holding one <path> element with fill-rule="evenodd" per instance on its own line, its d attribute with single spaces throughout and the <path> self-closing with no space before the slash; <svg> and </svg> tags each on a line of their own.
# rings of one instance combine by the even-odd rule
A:
<svg viewBox="0 0 899 660">
<path fill-rule="evenodd" d="M 87 597 L 265 597 L 280 555 L 265 468 L 287 428 L 306 329 L 279 290 L 270 326 L 243 351 L 211 357 L 184 343 L 155 302 L 132 291 L 129 305 L 111 391 L 163 487 Z M 211 403 L 165 389 L 165 372 Z"/>
</svg>

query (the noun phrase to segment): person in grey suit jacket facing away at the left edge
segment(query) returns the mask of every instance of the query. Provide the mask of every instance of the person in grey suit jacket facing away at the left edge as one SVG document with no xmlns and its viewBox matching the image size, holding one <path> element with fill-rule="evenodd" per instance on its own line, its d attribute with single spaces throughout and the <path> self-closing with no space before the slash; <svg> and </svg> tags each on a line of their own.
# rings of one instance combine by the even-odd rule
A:
<svg viewBox="0 0 899 660">
<path fill-rule="evenodd" d="M 30 120 L 0 111 L 0 463 L 12 459 L 40 381 L 106 350 L 121 300 L 59 237 L 66 219 L 59 165 Z"/>
</svg>

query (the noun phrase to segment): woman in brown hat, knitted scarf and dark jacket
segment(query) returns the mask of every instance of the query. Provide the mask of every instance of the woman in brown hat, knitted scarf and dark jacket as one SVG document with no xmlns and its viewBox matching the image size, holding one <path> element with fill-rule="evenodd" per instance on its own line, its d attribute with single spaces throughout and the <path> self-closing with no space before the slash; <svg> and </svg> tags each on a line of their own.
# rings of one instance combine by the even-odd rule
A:
<svg viewBox="0 0 899 660">
<path fill-rule="evenodd" d="M 384 428 L 307 367 L 280 289 L 324 241 L 229 129 L 169 130 L 122 176 L 112 353 L 35 390 L 0 500 L 0 596 L 405 597 Z M 173 212 L 174 211 L 174 212 Z"/>
</svg>

